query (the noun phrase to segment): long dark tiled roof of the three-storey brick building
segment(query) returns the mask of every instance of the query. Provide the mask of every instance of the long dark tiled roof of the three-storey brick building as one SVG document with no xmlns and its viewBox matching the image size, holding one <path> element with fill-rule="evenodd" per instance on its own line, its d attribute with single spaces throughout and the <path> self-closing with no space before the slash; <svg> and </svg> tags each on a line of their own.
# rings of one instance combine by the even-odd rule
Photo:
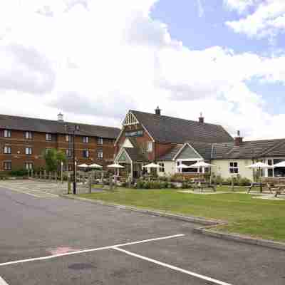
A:
<svg viewBox="0 0 285 285">
<path fill-rule="evenodd" d="M 29 130 L 40 133 L 61 133 L 66 134 L 65 125 L 73 128 L 79 125 L 78 135 L 89 135 L 100 138 L 115 139 L 120 133 L 119 128 L 103 127 L 100 125 L 87 125 L 82 123 L 60 122 L 58 120 L 44 120 L 38 118 L 26 118 L 12 115 L 0 115 L 0 128 L 9 130 Z"/>
</svg>

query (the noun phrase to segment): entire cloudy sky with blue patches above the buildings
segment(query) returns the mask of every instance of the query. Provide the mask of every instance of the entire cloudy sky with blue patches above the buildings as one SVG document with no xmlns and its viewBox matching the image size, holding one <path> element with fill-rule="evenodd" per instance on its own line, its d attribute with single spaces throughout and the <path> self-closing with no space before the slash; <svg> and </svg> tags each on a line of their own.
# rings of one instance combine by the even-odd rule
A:
<svg viewBox="0 0 285 285">
<path fill-rule="evenodd" d="M 3 0 L 0 113 L 120 127 L 128 110 L 285 138 L 284 0 Z"/>
</svg>

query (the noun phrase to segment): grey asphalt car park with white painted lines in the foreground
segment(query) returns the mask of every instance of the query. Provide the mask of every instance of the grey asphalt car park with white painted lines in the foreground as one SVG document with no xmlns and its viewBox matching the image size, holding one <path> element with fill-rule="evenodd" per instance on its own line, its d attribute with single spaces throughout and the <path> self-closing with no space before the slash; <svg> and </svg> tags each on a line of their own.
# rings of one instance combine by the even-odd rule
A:
<svg viewBox="0 0 285 285">
<path fill-rule="evenodd" d="M 36 185 L 36 184 L 35 184 Z M 0 182 L 0 284 L 285 284 L 285 252 Z"/>
</svg>

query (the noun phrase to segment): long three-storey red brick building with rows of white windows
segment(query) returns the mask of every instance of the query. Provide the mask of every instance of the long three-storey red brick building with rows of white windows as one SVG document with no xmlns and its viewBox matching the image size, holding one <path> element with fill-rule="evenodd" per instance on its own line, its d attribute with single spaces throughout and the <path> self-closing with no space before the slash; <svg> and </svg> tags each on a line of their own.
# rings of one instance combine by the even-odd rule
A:
<svg viewBox="0 0 285 285">
<path fill-rule="evenodd" d="M 44 167 L 43 152 L 48 148 L 65 152 L 68 162 L 64 167 L 72 170 L 72 130 L 76 125 L 78 164 L 97 163 L 105 167 L 113 162 L 118 128 L 65 122 L 62 114 L 58 114 L 58 120 L 0 115 L 0 171 Z"/>
</svg>

